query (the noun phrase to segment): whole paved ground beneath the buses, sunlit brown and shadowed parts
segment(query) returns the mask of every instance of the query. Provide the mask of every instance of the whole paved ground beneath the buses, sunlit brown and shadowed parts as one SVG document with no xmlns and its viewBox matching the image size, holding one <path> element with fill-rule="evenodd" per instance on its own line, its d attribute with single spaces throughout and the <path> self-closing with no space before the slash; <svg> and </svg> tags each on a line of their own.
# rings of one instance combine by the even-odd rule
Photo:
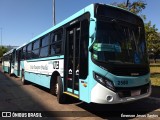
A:
<svg viewBox="0 0 160 120">
<path fill-rule="evenodd" d="M 0 71 L 0 112 L 12 112 L 14 117 L 17 114 L 13 112 L 39 112 L 43 119 L 55 117 L 65 120 L 113 119 L 114 116 L 125 118 L 125 115 L 135 115 L 132 118 L 127 116 L 128 119 L 160 119 L 160 88 L 152 88 L 149 98 L 127 104 L 87 104 L 73 97 L 68 97 L 66 104 L 58 104 L 56 96 L 51 95 L 48 89 L 35 84 L 22 85 L 20 78 Z M 137 114 L 141 116 L 136 117 Z"/>
</svg>

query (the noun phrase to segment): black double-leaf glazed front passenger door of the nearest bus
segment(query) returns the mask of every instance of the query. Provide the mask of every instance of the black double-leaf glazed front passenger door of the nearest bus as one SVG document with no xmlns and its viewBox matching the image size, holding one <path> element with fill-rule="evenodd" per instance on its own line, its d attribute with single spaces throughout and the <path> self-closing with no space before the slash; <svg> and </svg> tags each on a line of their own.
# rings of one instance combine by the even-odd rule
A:
<svg viewBox="0 0 160 120">
<path fill-rule="evenodd" d="M 80 23 L 66 30 L 64 91 L 79 97 Z"/>
</svg>

